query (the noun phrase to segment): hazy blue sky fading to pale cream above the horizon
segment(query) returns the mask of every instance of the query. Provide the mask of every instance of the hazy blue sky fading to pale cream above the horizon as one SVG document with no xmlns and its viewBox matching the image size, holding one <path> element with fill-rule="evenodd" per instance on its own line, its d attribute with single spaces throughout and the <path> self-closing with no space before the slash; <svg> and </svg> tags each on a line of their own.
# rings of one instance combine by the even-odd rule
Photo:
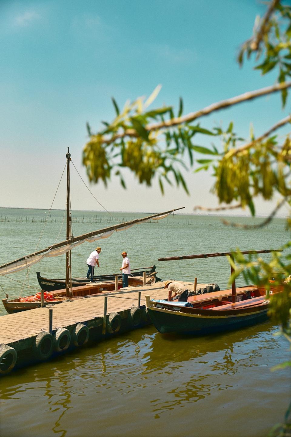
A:
<svg viewBox="0 0 291 437">
<path fill-rule="evenodd" d="M 211 172 L 184 174 L 190 196 L 170 186 L 162 196 L 157 180 L 145 187 L 130 172 L 126 191 L 114 177 L 107 188 L 90 184 L 82 166 L 86 122 L 96 132 L 102 120 L 115 116 L 111 97 L 122 108 L 158 84 L 162 89 L 151 108 L 173 105 L 177 112 L 181 96 L 184 114 L 272 85 L 274 74 L 261 76 L 252 60 L 243 68 L 236 62 L 240 44 L 264 11 L 257 0 L 0 0 L 0 207 L 49 208 L 68 147 L 99 201 L 71 166 L 73 210 L 160 212 L 185 206 L 192 213 L 196 205 L 216 207 Z M 212 128 L 233 121 L 247 139 L 251 123 L 259 136 L 289 108 L 283 111 L 280 96 L 272 95 L 200 122 Z M 209 146 L 209 138 L 196 138 Z M 64 176 L 53 208 L 65 208 Z M 274 202 L 258 201 L 257 214 L 267 215 Z"/>
</svg>

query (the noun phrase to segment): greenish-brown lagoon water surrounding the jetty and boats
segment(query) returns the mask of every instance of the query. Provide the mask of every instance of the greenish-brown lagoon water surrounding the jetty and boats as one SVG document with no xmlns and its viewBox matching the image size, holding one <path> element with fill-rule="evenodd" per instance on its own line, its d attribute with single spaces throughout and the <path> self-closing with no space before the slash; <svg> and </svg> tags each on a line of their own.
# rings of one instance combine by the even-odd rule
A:
<svg viewBox="0 0 291 437">
<path fill-rule="evenodd" d="M 0 208 L 0 264 L 65 239 L 63 211 Z M 72 212 L 74 236 L 145 214 Z M 149 215 L 149 214 L 146 214 Z M 260 218 L 229 218 L 257 223 Z M 60 228 L 62 229 L 60 232 Z M 44 229 L 43 229 L 44 228 Z M 39 242 L 39 238 L 41 240 Z M 227 287 L 225 257 L 159 262 L 159 257 L 278 248 L 290 238 L 284 220 L 261 229 L 226 227 L 217 216 L 175 215 L 116 232 L 72 252 L 72 276 L 101 246 L 99 274 L 117 273 L 121 252 L 131 267 L 157 266 L 163 280 L 216 282 Z M 39 244 L 38 244 L 39 242 Z M 267 261 L 269 255 L 262 255 Z M 65 257 L 45 258 L 28 273 L 0 277 L 10 297 L 33 294 L 36 271 L 64 277 Z M 23 286 L 23 283 L 26 286 Z M 29 287 L 27 285 L 29 284 Z M 243 285 L 238 278 L 237 285 Z M 0 316 L 6 314 L 3 306 Z M 198 436 L 260 437 L 283 422 L 290 372 L 271 368 L 290 358 L 288 343 L 271 322 L 217 336 L 161 335 L 153 326 L 19 369 L 1 378 L 3 437 Z"/>
</svg>

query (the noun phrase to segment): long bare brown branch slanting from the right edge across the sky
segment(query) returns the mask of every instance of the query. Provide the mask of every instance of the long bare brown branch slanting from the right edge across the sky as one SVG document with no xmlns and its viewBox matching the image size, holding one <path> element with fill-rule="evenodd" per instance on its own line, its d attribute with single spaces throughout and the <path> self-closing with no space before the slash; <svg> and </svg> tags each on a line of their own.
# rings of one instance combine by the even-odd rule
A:
<svg viewBox="0 0 291 437">
<path fill-rule="evenodd" d="M 217 102 L 217 103 L 213 103 L 209 106 L 206 106 L 203 109 L 200 109 L 199 111 L 192 112 L 188 115 L 184 115 L 183 117 L 171 118 L 171 120 L 163 121 L 160 123 L 154 123 L 152 125 L 146 125 L 145 129 L 148 132 L 151 132 L 151 131 L 155 131 L 155 130 L 159 130 L 159 129 L 171 128 L 171 127 L 181 125 L 184 123 L 189 123 L 190 121 L 196 120 L 197 118 L 203 117 L 204 115 L 209 115 L 214 111 L 219 111 L 220 109 L 228 108 L 229 106 L 233 106 L 233 105 L 239 104 L 241 102 L 252 100 L 252 99 L 255 99 L 257 97 L 261 97 L 261 96 L 264 96 L 267 94 L 276 93 L 277 91 L 285 90 L 289 87 L 291 87 L 291 82 L 282 82 L 282 83 L 277 83 L 276 85 L 273 85 L 270 87 L 261 88 L 260 90 L 247 91 L 246 93 L 240 94 L 239 96 L 232 97 L 232 98 L 226 99 L 226 100 L 222 100 L 222 101 Z M 113 135 L 109 139 L 102 138 L 102 142 L 104 144 L 111 144 L 116 139 L 124 138 L 126 136 L 139 137 L 139 134 L 137 133 L 137 131 L 135 129 L 126 129 L 124 132 Z"/>
</svg>

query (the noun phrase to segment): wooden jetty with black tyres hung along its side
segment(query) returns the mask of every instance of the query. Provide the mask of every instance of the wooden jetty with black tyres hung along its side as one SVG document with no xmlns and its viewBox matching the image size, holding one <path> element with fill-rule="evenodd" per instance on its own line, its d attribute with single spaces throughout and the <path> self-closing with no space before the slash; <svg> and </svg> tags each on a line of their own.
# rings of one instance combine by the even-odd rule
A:
<svg viewBox="0 0 291 437">
<path fill-rule="evenodd" d="M 207 284 L 197 284 L 205 287 Z M 189 291 L 196 283 L 185 282 Z M 0 375 L 88 341 L 149 325 L 145 296 L 164 299 L 163 282 L 122 288 L 0 317 Z"/>
</svg>

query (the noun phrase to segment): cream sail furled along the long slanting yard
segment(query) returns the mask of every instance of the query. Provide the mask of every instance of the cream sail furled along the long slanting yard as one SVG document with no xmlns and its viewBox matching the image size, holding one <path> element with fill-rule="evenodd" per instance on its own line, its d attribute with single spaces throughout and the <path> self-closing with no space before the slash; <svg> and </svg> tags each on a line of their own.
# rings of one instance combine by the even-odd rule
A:
<svg viewBox="0 0 291 437">
<path fill-rule="evenodd" d="M 149 215 L 148 217 L 144 218 L 136 218 L 135 220 L 131 220 L 130 222 L 120 223 L 120 225 L 114 225 L 110 226 L 109 228 L 99 229 L 97 231 L 89 232 L 87 234 L 79 235 L 77 237 L 71 237 L 70 239 L 62 241 L 61 243 L 54 244 L 43 250 L 39 250 L 38 252 L 31 253 L 30 255 L 26 255 L 25 257 L 11 261 L 10 263 L 3 264 L 2 266 L 0 266 L 0 275 L 7 275 L 10 273 L 21 271 L 32 266 L 33 264 L 38 263 L 45 257 L 58 257 L 60 255 L 63 255 L 64 253 L 67 253 L 69 250 L 74 249 L 76 246 L 79 246 L 85 241 L 92 243 L 99 239 L 108 238 L 112 236 L 114 232 L 129 229 L 133 225 L 147 222 L 150 219 L 159 220 L 161 218 L 165 218 L 172 212 L 178 211 L 179 209 L 183 208 L 171 209 L 171 211 L 160 212 L 159 214 Z"/>
</svg>

